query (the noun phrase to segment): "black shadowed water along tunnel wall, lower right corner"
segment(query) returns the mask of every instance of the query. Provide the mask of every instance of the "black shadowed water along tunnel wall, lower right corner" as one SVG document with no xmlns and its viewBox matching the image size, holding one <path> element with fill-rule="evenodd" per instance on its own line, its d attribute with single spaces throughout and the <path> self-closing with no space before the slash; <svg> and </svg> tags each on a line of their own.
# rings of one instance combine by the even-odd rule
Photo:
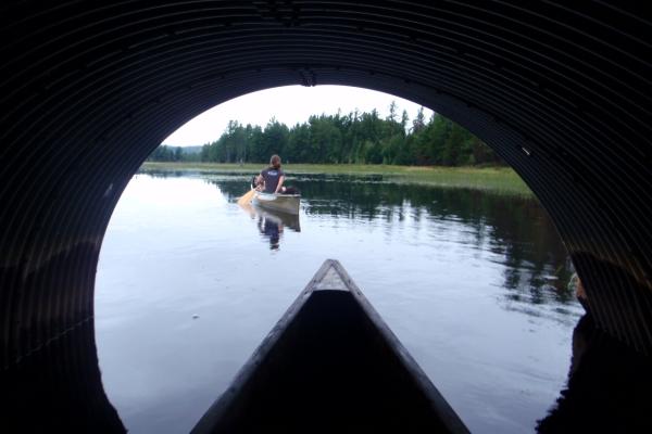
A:
<svg viewBox="0 0 652 434">
<path fill-rule="evenodd" d="M 590 314 L 573 332 L 566 388 L 537 432 L 652 433 L 652 359 L 595 327 Z"/>
</svg>

